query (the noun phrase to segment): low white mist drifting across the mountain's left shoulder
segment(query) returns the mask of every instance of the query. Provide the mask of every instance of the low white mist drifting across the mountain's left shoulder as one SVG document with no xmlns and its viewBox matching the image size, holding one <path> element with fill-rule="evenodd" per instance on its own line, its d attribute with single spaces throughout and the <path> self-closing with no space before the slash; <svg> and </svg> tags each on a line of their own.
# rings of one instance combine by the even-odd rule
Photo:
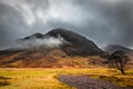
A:
<svg viewBox="0 0 133 89">
<path fill-rule="evenodd" d="M 63 44 L 69 43 L 65 41 L 61 36 L 58 36 L 58 38 L 54 37 L 45 37 L 43 39 L 38 39 L 35 37 L 32 37 L 30 39 L 18 40 L 13 46 L 9 47 L 10 49 L 48 49 L 48 48 L 60 48 Z"/>
</svg>

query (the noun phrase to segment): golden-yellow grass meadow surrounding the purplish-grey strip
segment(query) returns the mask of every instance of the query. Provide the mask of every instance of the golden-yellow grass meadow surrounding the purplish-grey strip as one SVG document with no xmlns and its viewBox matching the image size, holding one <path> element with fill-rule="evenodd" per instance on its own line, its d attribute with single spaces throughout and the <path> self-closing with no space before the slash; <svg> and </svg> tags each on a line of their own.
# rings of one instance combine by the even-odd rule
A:
<svg viewBox="0 0 133 89">
<path fill-rule="evenodd" d="M 92 78 L 109 80 L 120 86 L 133 86 L 133 70 L 121 75 L 115 69 L 106 68 L 1 68 L 0 77 L 11 78 L 9 86 L 1 86 L 0 89 L 75 89 L 58 81 L 59 75 L 88 75 Z M 0 81 L 4 81 L 0 79 Z"/>
</svg>

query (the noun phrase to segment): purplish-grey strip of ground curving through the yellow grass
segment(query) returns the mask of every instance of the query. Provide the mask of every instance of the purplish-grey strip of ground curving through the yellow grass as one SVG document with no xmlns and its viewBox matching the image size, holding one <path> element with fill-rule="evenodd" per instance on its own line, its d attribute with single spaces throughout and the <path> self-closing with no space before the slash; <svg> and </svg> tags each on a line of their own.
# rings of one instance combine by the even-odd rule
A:
<svg viewBox="0 0 133 89">
<path fill-rule="evenodd" d="M 59 80 L 78 89 L 123 89 L 109 81 L 92 79 L 88 76 L 60 75 Z"/>
</svg>

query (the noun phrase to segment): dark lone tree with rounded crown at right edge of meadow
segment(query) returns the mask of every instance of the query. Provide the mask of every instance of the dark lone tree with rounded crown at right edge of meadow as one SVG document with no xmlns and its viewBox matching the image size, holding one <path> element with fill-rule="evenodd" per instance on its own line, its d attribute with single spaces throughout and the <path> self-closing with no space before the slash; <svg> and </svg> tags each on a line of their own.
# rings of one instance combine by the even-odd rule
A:
<svg viewBox="0 0 133 89">
<path fill-rule="evenodd" d="M 127 56 L 125 56 L 124 51 L 115 51 L 109 57 L 110 67 L 119 69 L 122 75 L 124 75 L 125 66 L 129 61 Z"/>
</svg>

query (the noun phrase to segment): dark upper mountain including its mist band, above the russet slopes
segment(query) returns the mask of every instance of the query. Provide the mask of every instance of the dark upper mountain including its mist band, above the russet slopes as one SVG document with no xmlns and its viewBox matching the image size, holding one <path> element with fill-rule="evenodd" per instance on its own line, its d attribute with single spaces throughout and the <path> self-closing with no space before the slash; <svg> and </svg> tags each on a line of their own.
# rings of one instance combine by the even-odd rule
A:
<svg viewBox="0 0 133 89">
<path fill-rule="evenodd" d="M 34 33 L 32 36 L 20 39 L 19 41 L 27 41 L 27 43 L 28 41 L 30 41 L 29 46 L 38 46 L 38 48 L 58 47 L 61 48 L 69 56 L 85 57 L 103 53 L 103 51 L 99 49 L 99 47 L 93 41 L 73 31 L 61 28 L 53 29 L 45 34 Z"/>
</svg>

